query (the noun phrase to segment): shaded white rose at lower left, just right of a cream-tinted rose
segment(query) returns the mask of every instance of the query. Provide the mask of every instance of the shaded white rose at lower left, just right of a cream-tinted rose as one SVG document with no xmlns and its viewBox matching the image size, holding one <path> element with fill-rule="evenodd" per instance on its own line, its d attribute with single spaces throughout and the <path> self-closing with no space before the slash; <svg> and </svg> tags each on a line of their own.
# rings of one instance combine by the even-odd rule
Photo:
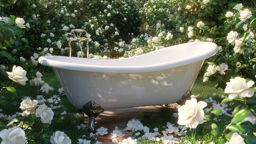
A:
<svg viewBox="0 0 256 144">
<path fill-rule="evenodd" d="M 52 108 L 47 107 L 45 104 L 38 106 L 36 110 L 36 117 L 40 117 L 42 123 L 52 123 L 53 119 Z"/>
</svg>

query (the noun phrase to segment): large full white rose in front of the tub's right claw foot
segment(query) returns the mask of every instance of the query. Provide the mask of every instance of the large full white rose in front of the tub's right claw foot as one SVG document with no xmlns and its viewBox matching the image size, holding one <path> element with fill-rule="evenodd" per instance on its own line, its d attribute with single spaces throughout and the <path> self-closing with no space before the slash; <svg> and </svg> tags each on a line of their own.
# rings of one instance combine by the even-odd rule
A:
<svg viewBox="0 0 256 144">
<path fill-rule="evenodd" d="M 195 98 L 187 100 L 185 105 L 178 108 L 178 124 L 196 128 L 198 124 L 204 123 L 203 108 L 206 106 L 206 102 L 199 101 L 197 103 Z"/>
</svg>

